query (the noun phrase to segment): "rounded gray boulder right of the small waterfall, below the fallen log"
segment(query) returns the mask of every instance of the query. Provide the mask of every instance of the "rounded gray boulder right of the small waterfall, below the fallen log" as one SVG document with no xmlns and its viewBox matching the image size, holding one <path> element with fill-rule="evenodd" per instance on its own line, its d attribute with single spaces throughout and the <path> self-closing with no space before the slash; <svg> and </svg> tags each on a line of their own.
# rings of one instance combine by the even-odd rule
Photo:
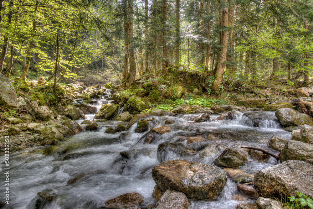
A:
<svg viewBox="0 0 313 209">
<path fill-rule="evenodd" d="M 305 114 L 292 108 L 281 108 L 275 112 L 278 121 L 285 127 L 300 126 L 300 125 L 313 125 L 313 119 Z"/>
</svg>

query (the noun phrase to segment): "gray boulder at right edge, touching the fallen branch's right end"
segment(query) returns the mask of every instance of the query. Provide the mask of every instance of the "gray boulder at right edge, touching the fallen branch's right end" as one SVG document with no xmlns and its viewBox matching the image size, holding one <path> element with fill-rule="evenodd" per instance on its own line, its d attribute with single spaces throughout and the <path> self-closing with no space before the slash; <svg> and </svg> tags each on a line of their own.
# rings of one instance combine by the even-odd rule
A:
<svg viewBox="0 0 313 209">
<path fill-rule="evenodd" d="M 280 162 L 313 159 L 313 144 L 289 140 L 280 154 Z"/>
</svg>

